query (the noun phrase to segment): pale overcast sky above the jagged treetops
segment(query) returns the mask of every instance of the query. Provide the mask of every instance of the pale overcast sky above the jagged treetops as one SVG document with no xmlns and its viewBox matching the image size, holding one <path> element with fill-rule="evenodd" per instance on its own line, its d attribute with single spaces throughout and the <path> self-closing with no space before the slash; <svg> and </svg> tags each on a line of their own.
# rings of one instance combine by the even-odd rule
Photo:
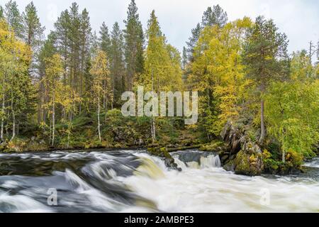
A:
<svg viewBox="0 0 319 227">
<path fill-rule="evenodd" d="M 9 0 L 0 0 L 4 6 Z M 45 34 L 53 29 L 60 12 L 69 9 L 74 0 L 33 0 L 40 21 L 46 28 Z M 21 11 L 30 2 L 17 0 Z M 169 43 L 182 50 L 191 29 L 201 21 L 203 11 L 208 6 L 219 4 L 234 20 L 243 16 L 255 18 L 264 15 L 273 18 L 281 32 L 290 40 L 289 51 L 308 49 L 309 41 L 319 40 L 318 0 L 135 0 L 143 27 L 146 28 L 150 12 L 155 9 L 162 32 Z M 123 19 L 130 0 L 77 0 L 80 9 L 86 8 L 91 17 L 91 26 L 99 31 L 103 21 L 109 28 L 118 21 L 123 28 Z"/>
</svg>

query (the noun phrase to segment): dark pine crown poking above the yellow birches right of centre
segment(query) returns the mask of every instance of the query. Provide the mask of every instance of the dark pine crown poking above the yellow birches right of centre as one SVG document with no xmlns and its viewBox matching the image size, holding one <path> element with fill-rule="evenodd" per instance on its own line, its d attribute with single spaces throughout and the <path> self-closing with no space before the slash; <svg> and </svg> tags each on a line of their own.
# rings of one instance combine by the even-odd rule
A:
<svg viewBox="0 0 319 227">
<path fill-rule="evenodd" d="M 203 13 L 203 18 L 201 20 L 201 26 L 204 28 L 206 26 L 218 26 L 222 28 L 228 21 L 228 16 L 225 11 L 219 6 L 208 7 Z"/>
</svg>

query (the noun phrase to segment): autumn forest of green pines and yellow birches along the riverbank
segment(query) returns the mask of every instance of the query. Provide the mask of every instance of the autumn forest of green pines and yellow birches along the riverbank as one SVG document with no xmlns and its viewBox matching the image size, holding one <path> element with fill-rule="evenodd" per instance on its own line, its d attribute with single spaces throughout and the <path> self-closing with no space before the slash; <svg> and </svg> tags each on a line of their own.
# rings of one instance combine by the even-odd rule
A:
<svg viewBox="0 0 319 227">
<path fill-rule="evenodd" d="M 154 10 L 143 28 L 132 0 L 124 23 L 93 31 L 74 2 L 45 36 L 32 1 L 23 12 L 16 1 L 0 6 L 0 152 L 148 147 L 169 157 L 199 148 L 246 175 L 301 170 L 317 155 L 317 40 L 289 53 L 272 19 L 229 21 L 219 5 L 181 52 Z M 198 92 L 198 123 L 123 116 L 121 94 L 138 86 Z"/>
</svg>

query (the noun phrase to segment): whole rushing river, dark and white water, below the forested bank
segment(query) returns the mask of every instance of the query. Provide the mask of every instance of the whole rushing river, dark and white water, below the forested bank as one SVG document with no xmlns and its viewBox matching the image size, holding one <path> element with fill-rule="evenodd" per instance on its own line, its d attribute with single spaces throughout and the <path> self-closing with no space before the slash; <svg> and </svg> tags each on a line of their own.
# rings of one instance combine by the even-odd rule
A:
<svg viewBox="0 0 319 227">
<path fill-rule="evenodd" d="M 318 158 L 306 174 L 245 177 L 213 153 L 172 156 L 180 172 L 138 150 L 0 154 L 0 212 L 319 211 Z"/>
</svg>

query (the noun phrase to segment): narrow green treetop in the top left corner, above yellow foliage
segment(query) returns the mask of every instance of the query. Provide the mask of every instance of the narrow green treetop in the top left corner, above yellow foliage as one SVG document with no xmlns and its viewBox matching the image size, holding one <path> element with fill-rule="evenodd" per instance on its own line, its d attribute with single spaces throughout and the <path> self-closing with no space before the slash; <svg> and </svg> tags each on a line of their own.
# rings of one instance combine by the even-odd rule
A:
<svg viewBox="0 0 319 227">
<path fill-rule="evenodd" d="M 6 21 L 11 28 L 13 28 L 16 37 L 23 38 L 23 25 L 20 11 L 18 10 L 18 4 L 16 1 L 8 1 L 5 5 L 4 14 Z"/>
</svg>

